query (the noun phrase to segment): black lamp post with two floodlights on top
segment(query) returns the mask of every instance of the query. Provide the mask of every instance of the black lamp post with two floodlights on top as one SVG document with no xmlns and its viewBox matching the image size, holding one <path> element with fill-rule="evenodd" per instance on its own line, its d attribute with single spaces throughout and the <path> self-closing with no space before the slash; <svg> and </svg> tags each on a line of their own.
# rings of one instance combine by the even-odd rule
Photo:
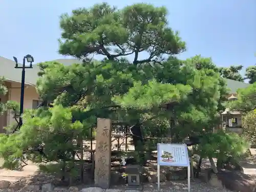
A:
<svg viewBox="0 0 256 192">
<path fill-rule="evenodd" d="M 22 114 L 24 111 L 24 88 L 25 88 L 25 69 L 31 69 L 32 67 L 32 62 L 34 62 L 34 58 L 31 55 L 26 55 L 23 58 L 23 65 L 22 67 L 18 67 L 18 60 L 16 57 L 13 57 L 16 65 L 15 69 L 22 69 L 22 87 L 20 88 L 20 105 L 19 105 L 19 125 L 18 127 L 22 126 Z M 29 66 L 26 66 L 26 60 L 27 62 L 30 62 Z"/>
</svg>

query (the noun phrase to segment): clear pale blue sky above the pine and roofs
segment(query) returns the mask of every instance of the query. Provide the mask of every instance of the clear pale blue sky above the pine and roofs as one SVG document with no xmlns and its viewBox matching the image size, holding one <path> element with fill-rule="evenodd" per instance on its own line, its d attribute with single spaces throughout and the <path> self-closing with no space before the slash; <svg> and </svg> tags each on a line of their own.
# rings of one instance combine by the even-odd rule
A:
<svg viewBox="0 0 256 192">
<path fill-rule="evenodd" d="M 187 43 L 182 58 L 201 54 L 218 66 L 256 63 L 255 0 L 105 1 L 122 8 L 146 2 L 166 6 L 170 27 Z M 121 3 L 126 2 L 126 3 Z M 12 59 L 31 54 L 35 62 L 63 58 L 57 53 L 59 16 L 100 1 L 2 0 L 0 2 L 0 56 Z"/>
</svg>

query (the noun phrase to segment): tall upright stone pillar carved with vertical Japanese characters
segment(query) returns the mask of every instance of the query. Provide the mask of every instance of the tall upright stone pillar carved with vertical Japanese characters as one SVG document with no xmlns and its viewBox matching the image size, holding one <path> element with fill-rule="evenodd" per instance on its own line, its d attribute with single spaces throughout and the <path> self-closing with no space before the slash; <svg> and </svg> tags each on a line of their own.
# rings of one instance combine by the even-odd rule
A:
<svg viewBox="0 0 256 192">
<path fill-rule="evenodd" d="M 94 182 L 101 188 L 110 187 L 111 120 L 97 119 Z"/>
</svg>

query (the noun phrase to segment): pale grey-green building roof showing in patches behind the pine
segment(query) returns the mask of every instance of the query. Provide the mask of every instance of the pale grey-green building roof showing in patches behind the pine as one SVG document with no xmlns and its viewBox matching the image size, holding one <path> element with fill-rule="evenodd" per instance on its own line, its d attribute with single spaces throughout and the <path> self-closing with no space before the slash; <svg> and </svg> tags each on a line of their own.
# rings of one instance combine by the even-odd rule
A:
<svg viewBox="0 0 256 192">
<path fill-rule="evenodd" d="M 73 63 L 81 63 L 78 59 L 55 59 L 65 66 L 72 65 Z M 20 64 L 21 65 L 21 64 Z M 9 81 L 21 82 L 22 71 L 20 69 L 15 69 L 15 62 L 13 60 L 7 59 L 0 56 L 0 76 L 4 76 Z M 33 65 L 32 69 L 26 69 L 25 82 L 27 84 L 35 84 L 38 78 L 37 73 L 39 68 L 37 65 Z M 238 89 L 246 88 L 249 86 L 248 83 L 235 81 L 231 79 L 226 79 L 227 87 L 230 89 L 229 93 L 236 93 Z"/>
</svg>

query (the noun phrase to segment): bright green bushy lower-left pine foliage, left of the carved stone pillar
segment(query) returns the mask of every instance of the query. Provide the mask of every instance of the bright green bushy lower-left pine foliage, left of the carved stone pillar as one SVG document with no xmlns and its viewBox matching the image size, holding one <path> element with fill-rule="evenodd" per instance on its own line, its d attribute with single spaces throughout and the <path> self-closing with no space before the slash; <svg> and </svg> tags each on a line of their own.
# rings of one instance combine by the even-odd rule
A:
<svg viewBox="0 0 256 192">
<path fill-rule="evenodd" d="M 39 111 L 26 112 L 24 125 L 15 134 L 2 135 L 0 152 L 8 168 L 17 165 L 17 158 L 36 163 L 69 161 L 77 149 L 73 140 L 83 133 L 83 126 L 79 121 L 72 123 L 71 109 L 55 105 Z"/>
</svg>

